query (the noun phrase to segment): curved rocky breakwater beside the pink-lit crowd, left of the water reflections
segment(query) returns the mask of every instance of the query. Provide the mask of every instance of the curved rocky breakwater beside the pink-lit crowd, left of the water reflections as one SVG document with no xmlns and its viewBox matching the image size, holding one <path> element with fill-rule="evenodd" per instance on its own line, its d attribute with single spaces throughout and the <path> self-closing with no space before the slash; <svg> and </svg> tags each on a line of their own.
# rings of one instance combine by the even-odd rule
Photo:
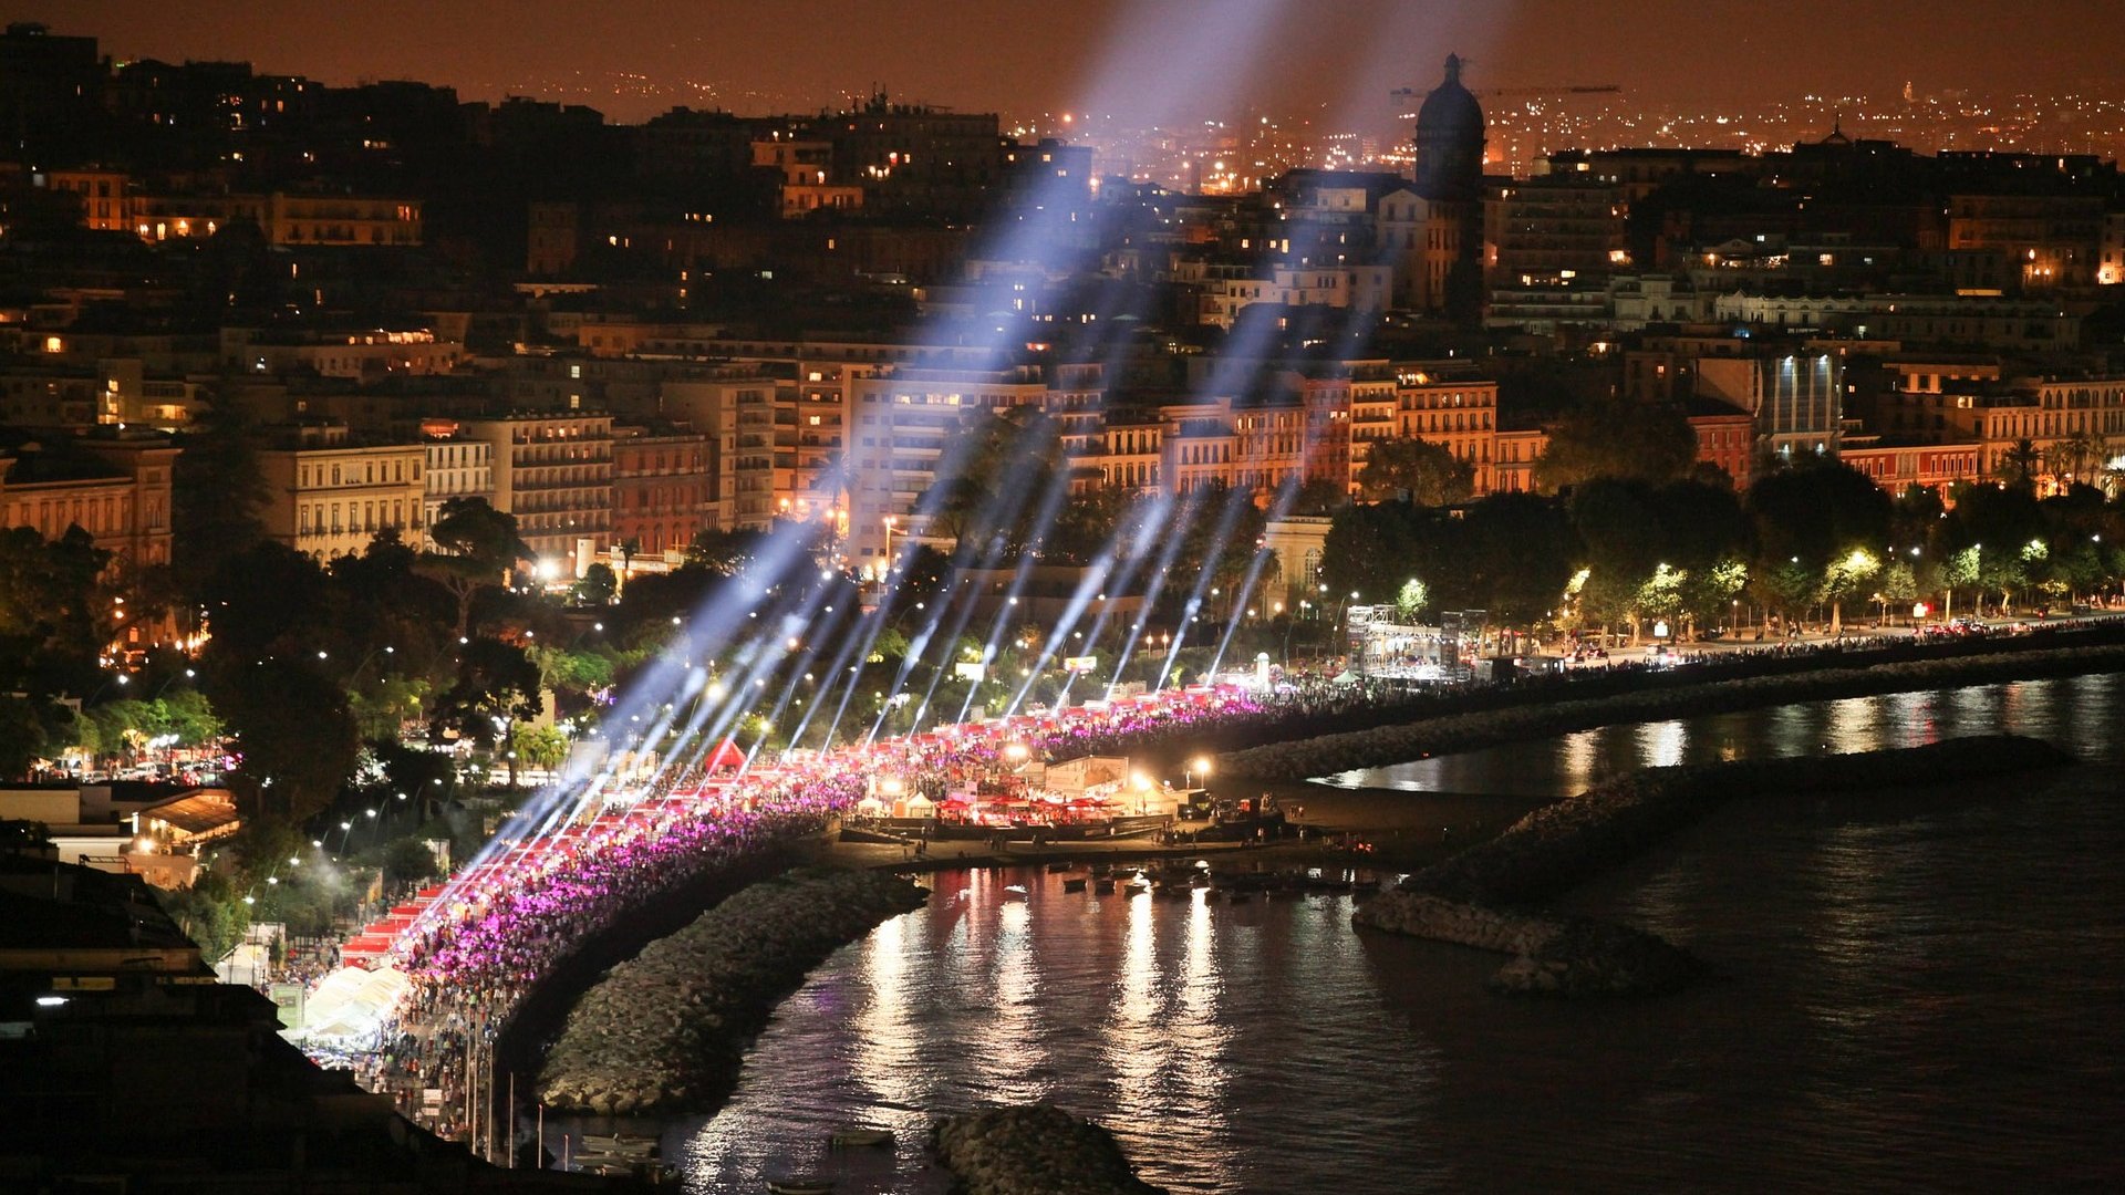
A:
<svg viewBox="0 0 2125 1195">
<path fill-rule="evenodd" d="M 742 889 L 576 1002 L 546 1053 L 540 1099 L 595 1114 L 714 1106 L 746 1042 L 812 967 L 926 895 L 890 872 L 829 868 Z"/>
</svg>

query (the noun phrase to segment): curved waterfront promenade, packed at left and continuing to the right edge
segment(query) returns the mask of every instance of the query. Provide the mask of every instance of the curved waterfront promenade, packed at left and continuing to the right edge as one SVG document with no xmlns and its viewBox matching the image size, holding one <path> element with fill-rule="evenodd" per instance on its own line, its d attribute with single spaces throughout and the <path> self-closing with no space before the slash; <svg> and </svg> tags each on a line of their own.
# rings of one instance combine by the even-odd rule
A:
<svg viewBox="0 0 2125 1195">
<path fill-rule="evenodd" d="M 2116 627 L 2110 627 L 2116 629 Z M 1972 644 L 1838 644 L 1802 653 L 1823 663 L 1851 661 L 1866 651 L 1925 651 L 1949 657 Z M 2106 636 L 2095 634 L 2091 638 Z M 2070 629 L 2029 636 L 2027 646 L 2078 642 Z M 2000 651 L 2017 644 L 1995 644 Z M 1753 666 L 1789 668 L 1794 651 L 1728 655 L 1702 670 L 1702 678 L 1732 676 Z M 1679 670 L 1681 672 L 1681 670 Z M 1696 668 L 1687 670 L 1696 672 Z M 1668 674 L 1645 672 L 1655 685 Z M 1604 685 L 1632 687 L 1619 672 Z M 1581 685 L 1572 685 L 1581 689 Z M 1504 693 L 1507 697 L 1513 693 Z M 1575 693 L 1556 693 L 1575 695 Z M 1498 697 L 1475 693 L 1473 700 Z M 1545 693 L 1522 693 L 1543 702 Z M 1436 706 L 1441 697 L 1417 700 Z M 1524 704 L 1524 702 L 1522 702 Z M 1243 729 L 1258 742 L 1279 738 L 1271 727 L 1303 729 L 1320 717 L 1341 717 L 1352 708 L 1375 714 L 1409 712 L 1409 693 L 1377 687 L 1328 687 L 1322 680 L 1294 685 L 1275 695 L 1235 689 L 1192 689 L 1126 702 L 1101 702 L 1037 719 L 1012 719 L 971 727 L 946 727 L 922 736 L 880 740 L 829 755 L 752 768 L 737 774 L 708 774 L 674 765 L 665 774 L 633 785 L 586 789 L 578 817 L 540 834 L 504 836 L 474 865 L 440 891 L 419 902 L 404 921 L 385 925 L 385 942 L 351 953 L 374 965 L 408 976 L 404 999 L 361 1040 L 317 1044 L 323 1059 L 353 1063 L 366 1084 L 404 1097 L 408 1112 L 444 1135 L 463 1138 L 480 1152 L 495 1155 L 491 1110 L 502 1091 L 491 1089 L 495 1038 L 563 959 L 591 938 L 614 931 L 629 912 L 682 882 L 737 874 L 782 848 L 818 842 L 822 829 L 882 774 L 946 776 L 956 780 L 994 776 L 1007 770 L 1005 746 L 1022 744 L 1052 759 L 1099 751 L 1130 751 L 1139 744 L 1171 748 L 1175 740 L 1205 740 Z M 1422 714 L 1420 714 L 1422 717 Z M 614 800 L 618 797 L 618 800 Z M 910 865 L 905 848 L 831 844 L 829 855 L 871 865 Z M 1037 859 L 1065 855 L 1122 857 L 1207 855 L 1237 846 L 1186 844 L 1158 851 L 1145 844 L 1069 846 L 1048 844 Z M 899 859 L 895 859 L 899 855 Z M 1024 863 L 1024 848 L 994 848 L 984 842 L 931 842 L 926 865 Z M 376 927 L 372 927 L 376 929 Z M 423 1099 L 425 1093 L 436 1093 Z"/>
</svg>

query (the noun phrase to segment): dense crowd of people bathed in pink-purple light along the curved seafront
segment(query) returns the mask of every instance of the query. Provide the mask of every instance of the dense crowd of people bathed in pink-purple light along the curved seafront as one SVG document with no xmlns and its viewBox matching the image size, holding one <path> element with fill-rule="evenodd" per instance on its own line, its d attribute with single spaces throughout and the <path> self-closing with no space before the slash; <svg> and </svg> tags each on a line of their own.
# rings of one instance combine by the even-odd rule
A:
<svg viewBox="0 0 2125 1195">
<path fill-rule="evenodd" d="M 427 1101 L 431 1123 L 463 1133 L 468 1063 L 493 1048 L 542 976 L 659 893 L 818 834 L 878 776 L 975 787 L 1026 757 L 1126 751 L 1260 710 L 1247 693 L 1190 691 L 852 744 L 735 774 L 667 768 L 627 789 L 625 814 L 586 810 L 555 834 L 497 840 L 393 942 L 389 963 L 408 984 L 376 1033 L 353 1048 L 312 1042 L 312 1055 L 351 1065 L 363 1087 L 397 1095 L 408 1112 L 423 1091 L 438 1093 Z"/>
</svg>

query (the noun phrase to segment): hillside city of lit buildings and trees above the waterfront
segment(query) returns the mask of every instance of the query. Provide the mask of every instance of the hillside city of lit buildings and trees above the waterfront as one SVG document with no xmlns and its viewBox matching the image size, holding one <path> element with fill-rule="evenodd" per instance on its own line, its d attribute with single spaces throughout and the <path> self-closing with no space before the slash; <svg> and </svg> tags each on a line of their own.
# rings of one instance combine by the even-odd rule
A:
<svg viewBox="0 0 2125 1195">
<path fill-rule="evenodd" d="M 8 26 L 0 899 L 83 863 L 104 946 L 285 1012 L 599 770 L 654 806 L 786 763 L 674 836 L 720 868 L 1028 742 L 2125 602 L 2119 104 L 1413 77 L 1386 138 L 888 91 L 620 123 Z M 929 742 L 963 725 L 1018 738 Z M 833 770 L 886 748 L 890 791 Z M 536 965 L 697 878 L 667 846 L 523 912 Z M 453 974 L 529 987 L 387 948 L 427 1027 Z"/>
</svg>

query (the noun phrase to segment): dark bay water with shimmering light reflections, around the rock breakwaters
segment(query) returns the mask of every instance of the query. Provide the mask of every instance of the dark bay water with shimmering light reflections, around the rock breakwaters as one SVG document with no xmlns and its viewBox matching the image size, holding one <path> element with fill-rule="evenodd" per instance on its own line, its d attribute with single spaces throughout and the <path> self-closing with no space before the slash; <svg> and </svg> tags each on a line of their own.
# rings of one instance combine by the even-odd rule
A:
<svg viewBox="0 0 2125 1195">
<path fill-rule="evenodd" d="M 1736 804 L 1568 902 L 1728 982 L 1660 1002 L 1496 999 L 1492 955 L 1356 936 L 1349 899 L 1209 904 L 939 874 L 837 953 L 729 1108 L 667 1127 L 693 1193 L 824 1172 L 941 1193 L 933 1112 L 1050 1097 L 1173 1191 L 2119 1189 L 2125 678 L 1613 727 L 1409 765 L 1570 791 L 1640 759 L 2017 729 L 2082 768 Z M 1400 770 L 1390 770 L 1400 772 Z M 2066 834 L 2059 827 L 2068 827 Z M 1005 899 L 1003 885 L 1031 891 Z M 831 1155 L 880 1125 L 897 1148 Z"/>
</svg>

